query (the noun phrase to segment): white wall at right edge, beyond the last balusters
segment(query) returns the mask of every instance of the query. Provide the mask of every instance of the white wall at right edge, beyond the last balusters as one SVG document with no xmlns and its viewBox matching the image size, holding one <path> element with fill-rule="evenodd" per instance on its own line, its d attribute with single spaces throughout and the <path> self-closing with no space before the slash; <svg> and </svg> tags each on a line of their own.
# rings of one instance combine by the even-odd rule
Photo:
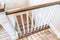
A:
<svg viewBox="0 0 60 40">
<path fill-rule="evenodd" d="M 60 5 L 56 7 L 54 14 L 50 22 L 55 26 L 55 28 L 60 32 Z"/>
</svg>

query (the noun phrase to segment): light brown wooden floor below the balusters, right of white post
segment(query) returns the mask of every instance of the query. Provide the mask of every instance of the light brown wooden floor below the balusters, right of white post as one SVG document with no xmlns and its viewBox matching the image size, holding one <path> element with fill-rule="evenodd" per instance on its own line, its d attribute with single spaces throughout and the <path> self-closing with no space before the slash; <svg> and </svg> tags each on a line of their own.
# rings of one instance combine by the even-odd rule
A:
<svg viewBox="0 0 60 40">
<path fill-rule="evenodd" d="M 51 29 L 47 29 L 19 40 L 59 40 Z"/>
</svg>

